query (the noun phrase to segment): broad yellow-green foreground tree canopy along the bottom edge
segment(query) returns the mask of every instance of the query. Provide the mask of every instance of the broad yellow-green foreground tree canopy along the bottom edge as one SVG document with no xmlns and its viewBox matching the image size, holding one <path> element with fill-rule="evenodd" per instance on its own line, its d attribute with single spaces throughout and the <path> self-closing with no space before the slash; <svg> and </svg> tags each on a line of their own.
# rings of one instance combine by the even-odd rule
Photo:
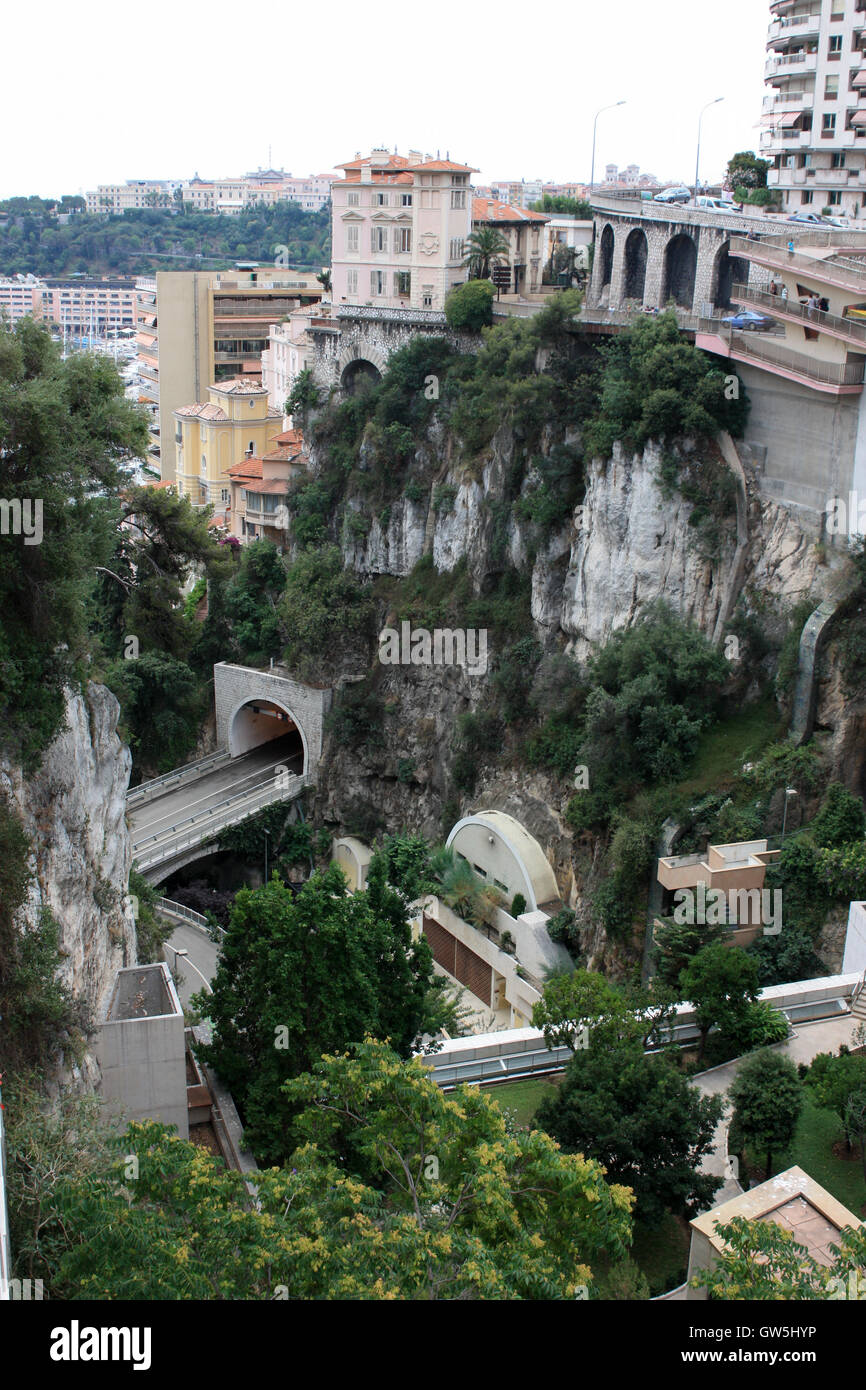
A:
<svg viewBox="0 0 866 1390">
<path fill-rule="evenodd" d="M 371 1041 L 286 1091 L 314 1140 L 291 1166 L 231 1172 L 146 1123 L 114 1163 L 64 1175 L 51 1295 L 574 1300 L 596 1295 L 591 1261 L 626 1257 L 631 1194 L 538 1130 L 510 1134 L 484 1093 L 445 1094 Z"/>
</svg>

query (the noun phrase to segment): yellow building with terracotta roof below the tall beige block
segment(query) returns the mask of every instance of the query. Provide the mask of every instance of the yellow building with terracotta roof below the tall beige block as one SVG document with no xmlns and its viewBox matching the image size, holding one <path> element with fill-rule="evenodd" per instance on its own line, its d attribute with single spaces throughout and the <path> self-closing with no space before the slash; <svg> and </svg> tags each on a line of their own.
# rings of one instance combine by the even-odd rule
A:
<svg viewBox="0 0 866 1390">
<path fill-rule="evenodd" d="M 193 506 L 231 503 L 229 468 L 245 456 L 261 457 L 282 413 L 268 406 L 260 381 L 234 377 L 207 388 L 209 399 L 174 411 L 177 482 Z M 277 427 L 278 428 L 278 427 Z"/>
</svg>

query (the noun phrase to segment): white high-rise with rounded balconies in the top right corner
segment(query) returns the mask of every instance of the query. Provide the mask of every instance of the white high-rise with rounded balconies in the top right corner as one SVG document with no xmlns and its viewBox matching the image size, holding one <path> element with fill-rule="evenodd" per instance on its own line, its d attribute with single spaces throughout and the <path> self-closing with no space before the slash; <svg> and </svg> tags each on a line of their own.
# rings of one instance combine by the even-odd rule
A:
<svg viewBox="0 0 866 1390">
<path fill-rule="evenodd" d="M 760 154 L 788 213 L 863 217 L 866 0 L 773 0 Z"/>
</svg>

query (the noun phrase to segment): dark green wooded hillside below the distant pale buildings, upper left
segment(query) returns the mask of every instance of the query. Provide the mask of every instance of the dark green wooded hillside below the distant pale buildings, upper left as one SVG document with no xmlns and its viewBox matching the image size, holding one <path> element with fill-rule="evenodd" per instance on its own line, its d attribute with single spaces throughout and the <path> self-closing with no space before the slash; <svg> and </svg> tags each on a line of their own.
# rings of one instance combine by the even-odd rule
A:
<svg viewBox="0 0 866 1390">
<path fill-rule="evenodd" d="M 120 217 L 76 213 L 65 225 L 40 200 L 0 203 L 0 275 L 143 275 L 156 270 L 221 270 L 235 260 L 320 270 L 331 254 L 331 213 L 296 203 L 231 217 L 136 208 Z M 6 220 L 4 220 L 6 213 Z"/>
</svg>

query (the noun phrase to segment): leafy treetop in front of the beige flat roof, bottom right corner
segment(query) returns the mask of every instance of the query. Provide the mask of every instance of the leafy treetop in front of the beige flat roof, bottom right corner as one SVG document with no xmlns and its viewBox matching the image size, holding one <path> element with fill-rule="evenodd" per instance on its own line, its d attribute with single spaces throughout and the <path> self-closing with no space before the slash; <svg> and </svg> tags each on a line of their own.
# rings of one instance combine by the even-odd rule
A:
<svg viewBox="0 0 866 1390">
<path fill-rule="evenodd" d="M 751 1300 L 796 1302 L 816 1298 L 862 1297 L 852 1290 L 866 1277 L 866 1226 L 847 1226 L 838 1245 L 831 1245 L 831 1265 L 819 1264 L 794 1234 L 771 1220 L 735 1216 L 716 1227 L 724 1248 L 710 1269 L 692 1280 L 710 1298 L 724 1302 Z"/>
</svg>

